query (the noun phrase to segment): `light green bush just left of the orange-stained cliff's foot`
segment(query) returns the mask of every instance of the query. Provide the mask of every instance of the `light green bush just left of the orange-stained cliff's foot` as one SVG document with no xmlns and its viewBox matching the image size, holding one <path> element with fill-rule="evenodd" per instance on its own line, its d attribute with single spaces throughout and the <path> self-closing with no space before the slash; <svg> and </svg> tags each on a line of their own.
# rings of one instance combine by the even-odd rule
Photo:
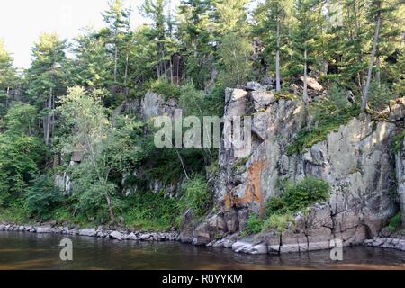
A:
<svg viewBox="0 0 405 288">
<path fill-rule="evenodd" d="M 195 216 L 202 217 L 208 211 L 210 204 L 207 180 L 203 175 L 193 175 L 183 185 L 181 210 L 191 209 Z"/>
</svg>

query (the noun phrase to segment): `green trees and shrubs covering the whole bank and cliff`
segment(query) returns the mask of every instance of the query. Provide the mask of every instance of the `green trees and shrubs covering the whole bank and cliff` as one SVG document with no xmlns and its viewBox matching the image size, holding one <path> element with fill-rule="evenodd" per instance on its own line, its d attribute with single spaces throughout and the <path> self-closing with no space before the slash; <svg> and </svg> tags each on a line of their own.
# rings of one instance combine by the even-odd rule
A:
<svg viewBox="0 0 405 288">
<path fill-rule="evenodd" d="M 400 0 L 181 0 L 175 11 L 145 0 L 140 10 L 149 23 L 136 29 L 112 0 L 100 30 L 41 34 L 23 71 L 0 42 L 0 220 L 172 229 L 188 209 L 210 211 L 218 150 L 155 148 L 150 123 L 121 109 L 148 90 L 199 118 L 220 117 L 225 88 L 251 80 L 301 98 L 308 117 L 290 154 L 405 96 Z M 283 229 L 326 191 L 315 179 L 287 187 L 247 233 Z"/>
</svg>

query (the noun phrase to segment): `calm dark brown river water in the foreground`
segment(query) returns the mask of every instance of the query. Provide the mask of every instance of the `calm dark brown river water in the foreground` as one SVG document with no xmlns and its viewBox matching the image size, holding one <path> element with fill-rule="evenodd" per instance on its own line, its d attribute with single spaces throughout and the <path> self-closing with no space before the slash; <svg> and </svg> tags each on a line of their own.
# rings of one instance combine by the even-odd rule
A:
<svg viewBox="0 0 405 288">
<path fill-rule="evenodd" d="M 73 241 L 73 261 L 59 259 L 62 238 Z M 344 258 L 336 264 L 330 261 L 329 251 L 249 256 L 172 242 L 0 232 L 0 269 L 405 269 L 401 251 L 348 247 Z"/>
</svg>

